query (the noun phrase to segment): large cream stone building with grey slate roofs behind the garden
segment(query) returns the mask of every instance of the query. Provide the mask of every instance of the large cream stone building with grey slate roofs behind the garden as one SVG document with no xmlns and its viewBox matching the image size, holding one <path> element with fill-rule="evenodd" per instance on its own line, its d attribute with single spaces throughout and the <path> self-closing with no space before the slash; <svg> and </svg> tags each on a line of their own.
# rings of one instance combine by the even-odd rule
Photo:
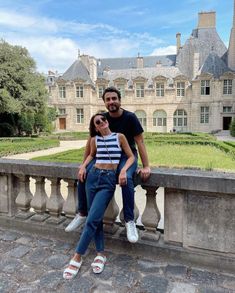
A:
<svg viewBox="0 0 235 293">
<path fill-rule="evenodd" d="M 235 1 L 234 1 L 235 2 Z M 56 130 L 87 131 L 104 110 L 102 93 L 115 86 L 122 106 L 146 131 L 227 130 L 235 118 L 235 4 L 227 49 L 216 31 L 215 12 L 201 12 L 198 26 L 167 56 L 104 58 L 78 54 L 59 77 L 50 72 L 49 103 L 58 110 Z"/>
</svg>

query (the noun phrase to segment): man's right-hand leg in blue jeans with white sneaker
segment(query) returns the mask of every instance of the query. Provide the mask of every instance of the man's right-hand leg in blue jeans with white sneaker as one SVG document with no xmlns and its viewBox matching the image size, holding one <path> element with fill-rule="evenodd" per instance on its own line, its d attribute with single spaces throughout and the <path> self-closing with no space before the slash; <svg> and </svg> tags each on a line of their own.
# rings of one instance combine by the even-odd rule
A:
<svg viewBox="0 0 235 293">
<path fill-rule="evenodd" d="M 121 161 L 118 166 L 119 172 L 124 166 L 126 160 L 127 160 L 127 157 L 125 155 L 122 155 Z M 122 201 L 123 201 L 123 214 L 124 214 L 124 220 L 125 220 L 125 225 L 127 229 L 127 239 L 132 243 L 135 243 L 138 241 L 138 232 L 134 222 L 135 189 L 134 189 L 134 182 L 133 182 L 133 176 L 137 169 L 137 160 L 138 160 L 137 156 L 135 156 L 135 162 L 127 170 L 127 184 L 121 187 Z"/>
</svg>

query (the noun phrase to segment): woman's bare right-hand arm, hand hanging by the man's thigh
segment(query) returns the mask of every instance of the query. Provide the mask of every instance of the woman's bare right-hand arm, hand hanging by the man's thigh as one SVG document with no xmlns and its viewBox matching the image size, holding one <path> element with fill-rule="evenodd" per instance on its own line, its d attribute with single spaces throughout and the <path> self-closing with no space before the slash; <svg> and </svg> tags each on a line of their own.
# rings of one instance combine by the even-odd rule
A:
<svg viewBox="0 0 235 293">
<path fill-rule="evenodd" d="M 122 150 L 125 152 L 127 156 L 127 161 L 123 168 L 120 171 L 119 177 L 118 177 L 118 183 L 120 185 L 126 185 L 127 184 L 127 178 L 126 178 L 126 171 L 130 168 L 130 166 L 134 163 L 135 157 L 131 151 L 131 148 L 127 142 L 127 139 L 125 135 L 119 133 L 119 142 Z"/>
</svg>

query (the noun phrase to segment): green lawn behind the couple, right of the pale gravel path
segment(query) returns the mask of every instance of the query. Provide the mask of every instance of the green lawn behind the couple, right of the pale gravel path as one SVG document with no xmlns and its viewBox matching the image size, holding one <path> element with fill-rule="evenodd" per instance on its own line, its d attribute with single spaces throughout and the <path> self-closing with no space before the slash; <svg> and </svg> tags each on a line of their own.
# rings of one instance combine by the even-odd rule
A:
<svg viewBox="0 0 235 293">
<path fill-rule="evenodd" d="M 222 170 L 235 172 L 235 160 L 212 146 L 147 144 L 150 165 L 152 167 L 200 168 L 204 170 Z M 37 157 L 34 160 L 48 162 L 79 163 L 83 159 L 84 148 L 55 155 Z"/>
</svg>

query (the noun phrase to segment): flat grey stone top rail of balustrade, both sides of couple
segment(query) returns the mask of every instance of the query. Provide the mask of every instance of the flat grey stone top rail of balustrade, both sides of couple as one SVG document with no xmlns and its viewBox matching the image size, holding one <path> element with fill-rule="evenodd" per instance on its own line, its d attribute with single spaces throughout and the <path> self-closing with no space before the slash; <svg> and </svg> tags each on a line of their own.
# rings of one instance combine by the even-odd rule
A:
<svg viewBox="0 0 235 293">
<path fill-rule="evenodd" d="M 77 179 L 79 164 L 48 163 L 29 160 L 0 159 L 0 173 L 43 176 L 46 178 Z M 142 186 L 161 186 L 183 190 L 229 193 L 235 195 L 235 173 L 191 169 L 152 168 L 146 183 L 136 177 Z"/>
</svg>

